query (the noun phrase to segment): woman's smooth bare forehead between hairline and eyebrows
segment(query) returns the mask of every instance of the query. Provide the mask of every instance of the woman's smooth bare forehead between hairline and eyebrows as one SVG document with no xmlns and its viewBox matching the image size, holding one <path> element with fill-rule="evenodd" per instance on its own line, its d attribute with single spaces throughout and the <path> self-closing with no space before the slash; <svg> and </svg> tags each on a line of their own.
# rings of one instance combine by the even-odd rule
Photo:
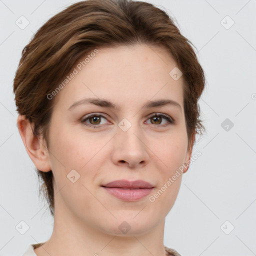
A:
<svg viewBox="0 0 256 256">
<path fill-rule="evenodd" d="M 174 80 L 169 74 L 176 66 L 163 46 L 97 48 L 97 53 L 88 53 L 77 61 L 70 71 L 75 70 L 76 74 L 55 100 L 72 104 L 84 97 L 102 97 L 118 105 L 134 105 L 137 101 L 167 97 L 182 105 L 183 77 Z"/>
</svg>

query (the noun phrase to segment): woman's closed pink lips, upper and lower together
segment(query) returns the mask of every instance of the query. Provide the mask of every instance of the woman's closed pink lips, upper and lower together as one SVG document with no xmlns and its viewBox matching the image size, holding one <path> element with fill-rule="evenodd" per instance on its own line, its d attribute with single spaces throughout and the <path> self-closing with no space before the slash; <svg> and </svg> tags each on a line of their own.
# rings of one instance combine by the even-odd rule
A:
<svg viewBox="0 0 256 256">
<path fill-rule="evenodd" d="M 154 186 L 144 180 L 119 179 L 101 185 L 111 195 L 125 201 L 136 201 L 148 195 Z"/>
</svg>

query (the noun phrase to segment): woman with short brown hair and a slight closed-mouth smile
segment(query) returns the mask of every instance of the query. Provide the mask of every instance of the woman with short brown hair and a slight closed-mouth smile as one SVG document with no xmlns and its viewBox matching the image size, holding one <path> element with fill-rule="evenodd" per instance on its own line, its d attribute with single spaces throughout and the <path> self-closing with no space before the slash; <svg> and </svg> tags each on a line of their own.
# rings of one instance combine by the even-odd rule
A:
<svg viewBox="0 0 256 256">
<path fill-rule="evenodd" d="M 54 226 L 23 255 L 180 255 L 163 233 L 203 130 L 190 44 L 131 0 L 77 2 L 36 32 L 13 91 Z"/>
</svg>

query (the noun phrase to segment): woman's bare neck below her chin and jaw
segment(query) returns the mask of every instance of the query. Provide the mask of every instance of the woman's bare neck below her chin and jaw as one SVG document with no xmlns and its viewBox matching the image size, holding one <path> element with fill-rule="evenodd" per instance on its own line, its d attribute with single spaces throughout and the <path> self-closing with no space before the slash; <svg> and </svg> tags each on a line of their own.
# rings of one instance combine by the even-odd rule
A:
<svg viewBox="0 0 256 256">
<path fill-rule="evenodd" d="M 61 208 L 61 212 L 58 208 Z M 51 237 L 42 246 L 35 248 L 34 252 L 37 256 L 165 256 L 163 233 L 164 219 L 146 232 L 132 232 L 130 229 L 122 235 L 106 233 L 100 227 L 84 223 L 72 212 L 63 211 L 61 205 L 55 208 Z"/>
</svg>

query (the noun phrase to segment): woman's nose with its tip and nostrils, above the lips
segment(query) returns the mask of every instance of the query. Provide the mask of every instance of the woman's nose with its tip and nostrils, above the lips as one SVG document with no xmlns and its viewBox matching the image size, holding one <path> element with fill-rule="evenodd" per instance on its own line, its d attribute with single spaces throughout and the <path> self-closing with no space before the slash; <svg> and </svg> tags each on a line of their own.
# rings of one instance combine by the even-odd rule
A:
<svg viewBox="0 0 256 256">
<path fill-rule="evenodd" d="M 149 161 L 149 149 L 141 129 L 136 125 L 124 131 L 117 128 L 113 137 L 112 161 L 130 168 L 145 166 Z"/>
</svg>

